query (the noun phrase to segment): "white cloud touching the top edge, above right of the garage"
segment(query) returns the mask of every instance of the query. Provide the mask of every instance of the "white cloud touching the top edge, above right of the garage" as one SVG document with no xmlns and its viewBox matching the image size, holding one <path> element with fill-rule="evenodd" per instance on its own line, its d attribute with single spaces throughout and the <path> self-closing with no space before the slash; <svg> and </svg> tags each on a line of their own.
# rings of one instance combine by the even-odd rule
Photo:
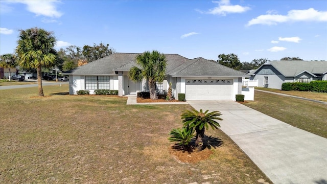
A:
<svg viewBox="0 0 327 184">
<path fill-rule="evenodd" d="M 243 13 L 250 10 L 250 7 L 243 7 L 241 5 L 231 5 L 229 0 L 213 1 L 213 3 L 218 4 L 218 6 L 209 9 L 204 13 L 226 16 L 226 14 L 228 13 Z M 200 12 L 203 13 L 202 11 Z"/>
</svg>

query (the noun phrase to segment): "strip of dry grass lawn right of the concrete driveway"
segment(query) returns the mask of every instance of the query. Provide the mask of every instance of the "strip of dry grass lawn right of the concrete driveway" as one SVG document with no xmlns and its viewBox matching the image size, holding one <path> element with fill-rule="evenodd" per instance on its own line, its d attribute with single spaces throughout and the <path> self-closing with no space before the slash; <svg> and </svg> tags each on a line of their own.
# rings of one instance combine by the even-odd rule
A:
<svg viewBox="0 0 327 184">
<path fill-rule="evenodd" d="M 324 94 L 321 93 L 321 95 Z M 309 96 L 305 97 L 309 98 Z M 255 91 L 254 101 L 248 101 L 244 105 L 327 138 L 327 105 L 325 104 Z"/>
</svg>

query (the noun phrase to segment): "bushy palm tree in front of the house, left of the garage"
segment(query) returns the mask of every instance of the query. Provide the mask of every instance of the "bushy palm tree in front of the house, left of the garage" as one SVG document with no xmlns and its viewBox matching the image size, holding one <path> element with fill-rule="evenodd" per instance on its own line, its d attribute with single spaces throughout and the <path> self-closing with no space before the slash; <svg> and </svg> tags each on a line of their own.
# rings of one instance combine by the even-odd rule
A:
<svg viewBox="0 0 327 184">
<path fill-rule="evenodd" d="M 158 99 L 155 85 L 156 82 L 164 81 L 167 65 L 166 56 L 158 51 L 146 51 L 136 56 L 136 64 L 141 68 L 133 66 L 129 71 L 129 78 L 134 82 L 141 82 L 146 79 L 150 89 L 150 99 Z"/>
</svg>

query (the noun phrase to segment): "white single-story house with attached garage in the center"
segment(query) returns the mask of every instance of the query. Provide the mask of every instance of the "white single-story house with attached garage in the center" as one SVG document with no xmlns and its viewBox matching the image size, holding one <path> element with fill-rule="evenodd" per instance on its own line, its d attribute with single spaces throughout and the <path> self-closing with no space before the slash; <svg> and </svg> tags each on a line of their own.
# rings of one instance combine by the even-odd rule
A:
<svg viewBox="0 0 327 184">
<path fill-rule="evenodd" d="M 114 89 L 119 91 L 119 96 L 148 91 L 147 81 L 133 82 L 128 77 L 130 68 L 136 66 L 137 55 L 115 53 L 65 72 L 64 75 L 69 75 L 69 94 L 76 95 L 81 89 L 89 90 L 90 94 L 94 94 L 95 89 Z M 188 59 L 178 54 L 165 56 L 166 79 L 157 82 L 158 93 L 168 91 L 171 82 L 175 99 L 178 93 L 184 93 L 186 100 L 235 100 L 235 95 L 242 94 L 245 73 L 213 60 Z M 253 93 L 245 99 L 253 100 Z"/>
</svg>

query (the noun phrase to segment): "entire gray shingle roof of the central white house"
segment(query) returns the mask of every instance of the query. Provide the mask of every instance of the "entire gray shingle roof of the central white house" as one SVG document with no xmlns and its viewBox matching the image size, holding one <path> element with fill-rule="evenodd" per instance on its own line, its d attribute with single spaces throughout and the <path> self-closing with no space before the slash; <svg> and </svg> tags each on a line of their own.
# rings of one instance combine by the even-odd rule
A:
<svg viewBox="0 0 327 184">
<path fill-rule="evenodd" d="M 79 66 L 65 74 L 115 75 L 115 71 L 129 71 L 135 62 L 136 53 L 114 53 L 110 56 Z M 167 60 L 167 75 L 171 76 L 246 76 L 213 60 L 188 59 L 178 54 L 164 54 Z"/>
</svg>

